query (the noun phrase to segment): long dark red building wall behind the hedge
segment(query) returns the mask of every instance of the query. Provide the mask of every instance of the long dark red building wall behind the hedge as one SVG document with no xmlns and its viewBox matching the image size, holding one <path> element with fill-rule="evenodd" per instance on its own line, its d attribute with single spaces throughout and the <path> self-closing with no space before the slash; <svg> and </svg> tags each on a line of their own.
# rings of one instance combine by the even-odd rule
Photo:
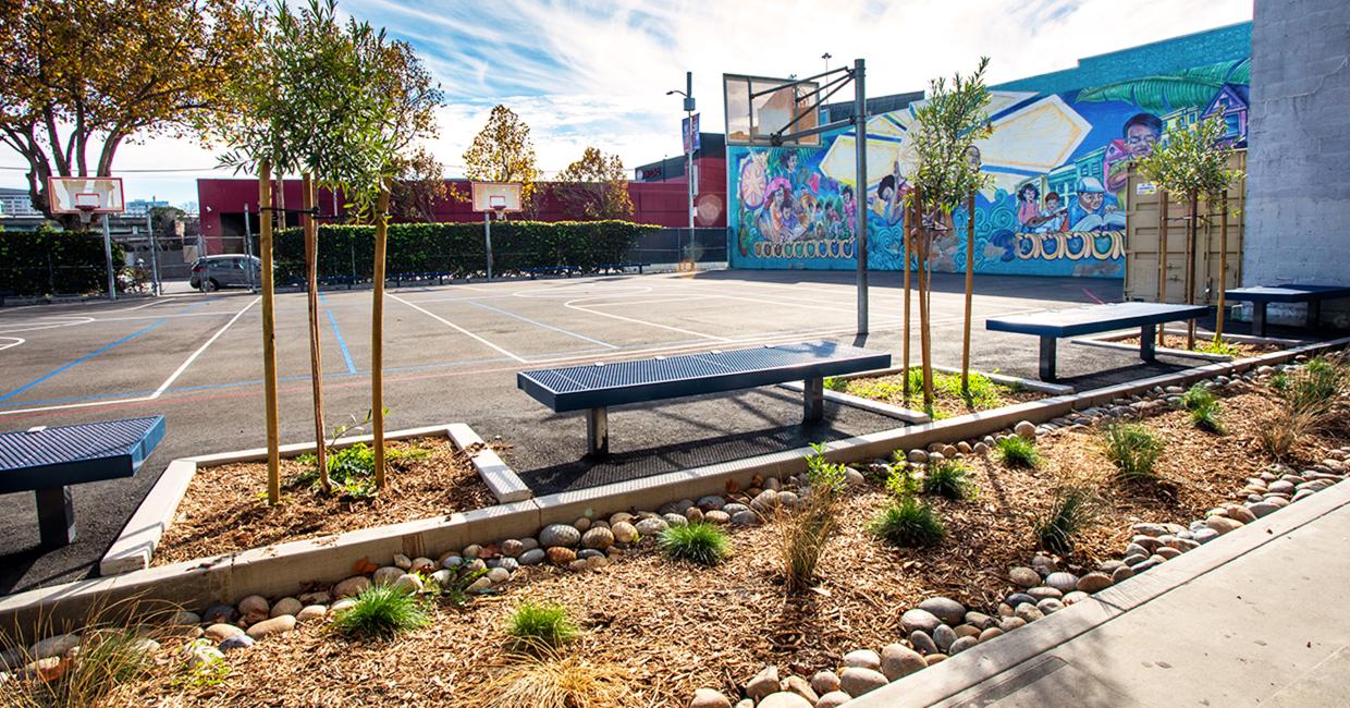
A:
<svg viewBox="0 0 1350 708">
<path fill-rule="evenodd" d="M 698 195 L 695 197 L 698 227 L 726 227 L 726 159 L 698 158 Z M 468 195 L 467 180 L 447 180 L 460 193 Z M 286 180 L 285 205 L 300 208 L 300 180 Z M 664 182 L 629 182 L 629 197 L 633 200 L 633 222 L 675 228 L 688 227 L 688 193 L 684 176 Z M 339 207 L 342 196 L 339 195 Z M 221 253 L 221 215 L 239 215 L 248 211 L 258 213 L 258 181 L 239 180 L 197 180 L 197 204 L 201 209 L 201 235 L 209 253 Z M 332 212 L 332 195 L 319 191 L 320 213 Z M 481 222 L 483 215 L 473 211 L 467 201 L 444 200 L 435 208 L 437 222 Z M 566 222 L 576 219 L 558 200 L 545 196 L 540 204 L 537 219 L 541 222 Z M 256 222 L 254 231 L 256 232 Z"/>
</svg>

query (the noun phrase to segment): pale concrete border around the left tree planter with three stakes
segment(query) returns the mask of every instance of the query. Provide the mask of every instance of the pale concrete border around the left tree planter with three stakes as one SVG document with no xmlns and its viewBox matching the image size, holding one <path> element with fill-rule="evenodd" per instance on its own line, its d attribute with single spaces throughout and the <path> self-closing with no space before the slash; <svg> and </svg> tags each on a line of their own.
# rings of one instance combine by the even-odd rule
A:
<svg viewBox="0 0 1350 708">
<path fill-rule="evenodd" d="M 452 424 L 447 426 L 425 426 L 418 428 L 404 428 L 396 430 L 385 434 L 386 440 L 405 440 L 409 438 L 423 438 L 446 435 L 463 450 L 466 446 L 459 445 L 455 439 L 455 432 L 451 428 L 455 426 L 462 426 L 467 435 L 471 435 L 474 440 L 482 442 L 468 426 Z M 374 435 L 354 435 L 351 438 L 339 438 L 333 445 L 335 449 L 350 447 L 356 443 L 370 443 L 375 439 Z M 282 457 L 294 457 L 305 453 L 313 453 L 317 446 L 312 442 L 306 443 L 290 443 L 281 446 Z M 490 453 L 490 450 L 489 450 Z M 500 473 L 498 469 L 491 467 L 490 472 L 498 474 L 498 480 L 505 480 L 509 473 L 514 477 L 516 473 L 512 472 L 505 463 L 501 463 L 501 458 L 497 458 L 495 453 L 491 454 L 497 459 L 501 469 L 505 473 Z M 99 574 L 100 576 L 116 576 L 122 573 L 131 573 L 135 570 L 144 570 L 150 567 L 150 559 L 154 558 L 155 549 L 159 546 L 159 539 L 163 538 L 165 531 L 173 524 L 174 516 L 178 513 L 178 504 L 182 501 L 184 495 L 188 492 L 188 485 L 192 484 L 192 477 L 197 473 L 197 467 L 211 467 L 217 465 L 230 465 L 234 462 L 258 462 L 267 459 L 266 447 L 255 447 L 251 450 L 236 450 L 231 453 L 216 453 L 209 455 L 185 457 L 173 459 L 165 469 L 159 480 L 142 500 L 140 505 L 136 507 L 135 513 L 113 539 L 112 546 L 104 553 L 103 558 L 99 561 Z M 487 459 L 483 459 L 485 465 Z M 479 458 L 474 457 L 474 467 L 478 469 L 479 476 L 487 482 L 489 489 L 493 493 L 497 490 L 493 488 L 493 482 L 483 473 L 483 466 L 479 465 Z M 514 477 L 517 484 L 520 484 L 520 477 Z M 524 484 L 521 484 L 524 486 Z M 528 489 L 526 489 L 528 492 Z M 504 500 L 498 495 L 498 501 L 516 501 Z"/>
</svg>

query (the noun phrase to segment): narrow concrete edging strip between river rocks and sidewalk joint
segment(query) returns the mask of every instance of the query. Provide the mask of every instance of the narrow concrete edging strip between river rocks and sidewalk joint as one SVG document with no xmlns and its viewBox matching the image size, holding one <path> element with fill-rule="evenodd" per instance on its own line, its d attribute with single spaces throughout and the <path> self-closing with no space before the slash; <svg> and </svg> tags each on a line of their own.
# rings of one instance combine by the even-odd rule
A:
<svg viewBox="0 0 1350 708">
<path fill-rule="evenodd" d="M 849 708 L 929 707 L 946 704 L 945 701 L 954 705 L 986 705 L 987 703 L 980 700 L 980 693 L 996 690 L 1002 681 L 995 680 L 1004 674 L 1022 673 L 1023 665 L 1060 644 L 1346 505 L 1350 505 L 1350 484 L 1338 482 L 1297 504 L 1224 534 L 1200 549 L 1112 585 L 1094 595 L 1091 600 L 1076 603 L 1004 636 L 977 644 L 936 666 L 860 696 L 846 705 Z M 987 681 L 990 684 L 981 686 Z"/>
</svg>

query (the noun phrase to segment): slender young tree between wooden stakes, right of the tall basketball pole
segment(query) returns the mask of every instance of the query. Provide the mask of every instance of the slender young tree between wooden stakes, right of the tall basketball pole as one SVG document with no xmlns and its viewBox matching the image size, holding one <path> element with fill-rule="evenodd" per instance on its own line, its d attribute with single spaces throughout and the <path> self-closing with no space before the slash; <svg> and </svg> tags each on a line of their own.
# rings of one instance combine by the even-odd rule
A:
<svg viewBox="0 0 1350 708">
<path fill-rule="evenodd" d="M 975 143 L 992 134 L 990 126 L 990 91 L 984 85 L 988 57 L 981 57 L 975 73 L 929 82 L 927 99 L 914 111 L 915 123 L 906 138 L 913 145 L 915 161 L 906 174 L 909 204 L 918 215 L 917 228 L 919 355 L 923 362 L 923 405 L 933 407 L 933 349 L 929 315 L 932 265 L 929 250 L 938 231 L 952 227 L 952 212 L 971 195 L 988 184 L 969 158 Z"/>
</svg>

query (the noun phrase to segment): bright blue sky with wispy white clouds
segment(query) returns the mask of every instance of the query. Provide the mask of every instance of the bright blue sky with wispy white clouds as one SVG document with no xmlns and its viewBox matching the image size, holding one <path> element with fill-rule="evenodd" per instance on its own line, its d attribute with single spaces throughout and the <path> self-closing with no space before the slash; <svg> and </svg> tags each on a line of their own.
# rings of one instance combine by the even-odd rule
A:
<svg viewBox="0 0 1350 708">
<path fill-rule="evenodd" d="M 446 174 L 487 112 L 504 103 L 532 128 L 545 177 L 586 146 L 629 168 L 680 151 L 684 72 L 703 130 L 721 131 L 721 74 L 787 76 L 867 59 L 868 95 L 922 89 L 991 57 L 992 82 L 1075 65 L 1168 36 L 1251 19 L 1251 0 L 339 0 L 339 9 L 410 42 L 446 91 L 440 136 Z M 846 93 L 846 92 L 844 92 Z M 841 93 L 842 96 L 842 93 Z M 217 149 L 192 141 L 126 145 L 113 170 L 128 199 L 196 201 Z M 0 151 L 0 166 L 23 162 Z M 173 172 L 162 172 L 173 170 Z M 22 173 L 0 170 L 0 185 Z"/>
</svg>

